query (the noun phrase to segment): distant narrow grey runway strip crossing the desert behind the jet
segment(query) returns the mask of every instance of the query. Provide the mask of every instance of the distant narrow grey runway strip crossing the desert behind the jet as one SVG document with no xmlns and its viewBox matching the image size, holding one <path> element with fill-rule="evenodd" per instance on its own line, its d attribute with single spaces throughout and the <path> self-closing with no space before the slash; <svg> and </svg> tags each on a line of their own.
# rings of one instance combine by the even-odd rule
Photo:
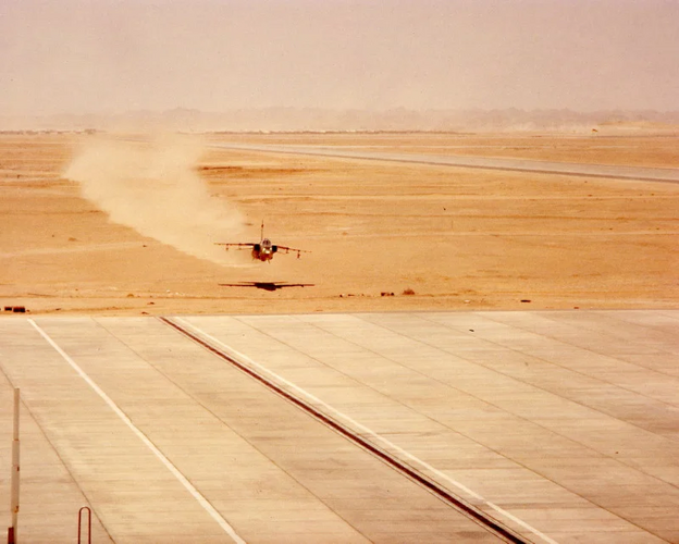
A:
<svg viewBox="0 0 679 544">
<path fill-rule="evenodd" d="M 495 157 L 442 156 L 418 153 L 393 153 L 375 151 L 356 151 L 328 146 L 288 146 L 263 144 L 211 144 L 220 149 L 264 151 L 285 154 L 308 154 L 334 157 L 338 159 L 378 160 L 416 164 L 458 166 L 482 170 L 502 170 L 513 172 L 533 172 L 640 182 L 679 183 L 678 169 L 621 166 L 607 164 L 584 164 L 572 162 L 535 161 Z"/>
</svg>

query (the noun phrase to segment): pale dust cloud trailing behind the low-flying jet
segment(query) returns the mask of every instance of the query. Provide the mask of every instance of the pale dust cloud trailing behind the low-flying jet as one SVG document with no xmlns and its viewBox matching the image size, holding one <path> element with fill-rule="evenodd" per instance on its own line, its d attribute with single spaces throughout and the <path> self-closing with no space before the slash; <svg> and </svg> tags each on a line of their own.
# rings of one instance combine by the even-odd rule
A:
<svg viewBox="0 0 679 544">
<path fill-rule="evenodd" d="M 214 242 L 242 233 L 242 213 L 210 196 L 196 172 L 199 139 L 165 135 L 149 141 L 92 138 L 76 151 L 64 176 L 81 184 L 83 196 L 111 221 L 180 251 L 238 265 Z"/>
</svg>

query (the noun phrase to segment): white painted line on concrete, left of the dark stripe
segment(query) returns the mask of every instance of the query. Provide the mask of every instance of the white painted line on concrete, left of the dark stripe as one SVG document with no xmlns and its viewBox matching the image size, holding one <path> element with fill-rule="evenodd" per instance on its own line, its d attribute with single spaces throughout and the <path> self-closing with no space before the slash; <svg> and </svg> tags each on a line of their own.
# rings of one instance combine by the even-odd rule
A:
<svg viewBox="0 0 679 544">
<path fill-rule="evenodd" d="M 50 338 L 50 336 L 40 329 L 35 321 L 32 319 L 28 322 L 40 333 L 40 335 L 52 346 L 64 360 L 73 367 L 73 369 L 81 375 L 83 380 L 87 382 L 87 384 L 97 393 L 106 404 L 118 415 L 120 419 L 135 433 L 144 444 L 160 459 L 160 461 L 172 472 L 172 474 L 186 487 L 186 490 L 194 496 L 198 504 L 205 508 L 205 510 L 212 516 L 212 518 L 220 524 L 220 527 L 233 539 L 237 544 L 246 544 L 246 542 L 236 534 L 233 527 L 229 524 L 229 522 L 222 517 L 220 512 L 218 512 L 214 507 L 208 502 L 206 497 L 203 497 L 200 492 L 194 487 L 194 485 L 186 479 L 182 472 L 168 459 L 158 447 L 141 432 L 139 429 L 132 422 L 132 420 L 125 415 L 123 410 L 121 410 L 118 405 L 109 397 L 99 387 L 95 381 L 89 378 L 85 371 L 77 366 L 77 363 L 71 359 L 69 354 L 66 354 L 57 343 Z"/>
</svg>

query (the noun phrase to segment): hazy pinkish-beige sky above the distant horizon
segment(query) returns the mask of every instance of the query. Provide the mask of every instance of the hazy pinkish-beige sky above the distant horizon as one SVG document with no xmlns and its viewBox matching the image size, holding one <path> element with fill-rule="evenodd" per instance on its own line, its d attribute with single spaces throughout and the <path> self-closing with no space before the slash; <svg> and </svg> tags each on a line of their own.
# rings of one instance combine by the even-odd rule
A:
<svg viewBox="0 0 679 544">
<path fill-rule="evenodd" d="M 679 110 L 679 0 L 0 0 L 0 114 Z"/>
</svg>

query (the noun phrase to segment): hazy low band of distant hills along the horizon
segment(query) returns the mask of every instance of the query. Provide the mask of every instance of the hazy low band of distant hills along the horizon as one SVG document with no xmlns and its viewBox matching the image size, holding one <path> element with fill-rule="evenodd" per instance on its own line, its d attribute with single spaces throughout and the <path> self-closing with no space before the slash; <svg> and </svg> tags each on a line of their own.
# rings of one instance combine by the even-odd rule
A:
<svg viewBox="0 0 679 544">
<path fill-rule="evenodd" d="M 504 132 L 568 133 L 679 132 L 679 111 L 572 110 L 424 110 L 404 108 L 325 110 L 307 108 L 240 109 L 203 112 L 176 108 L 121 114 L 0 115 L 0 131 L 146 131 L 181 132 Z"/>
</svg>

